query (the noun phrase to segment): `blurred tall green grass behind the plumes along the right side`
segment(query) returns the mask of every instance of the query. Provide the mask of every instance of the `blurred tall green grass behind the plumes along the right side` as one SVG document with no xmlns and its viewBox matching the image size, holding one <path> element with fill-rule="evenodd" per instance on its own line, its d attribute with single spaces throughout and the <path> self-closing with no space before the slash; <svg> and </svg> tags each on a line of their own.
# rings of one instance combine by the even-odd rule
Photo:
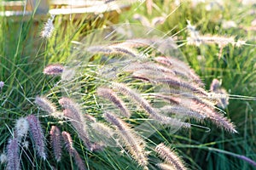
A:
<svg viewBox="0 0 256 170">
<path fill-rule="evenodd" d="M 170 11 L 175 10 L 171 15 L 167 15 L 168 18 L 164 24 L 157 27 L 175 35 L 173 38 L 185 54 L 189 65 L 205 82 L 207 89 L 211 89 L 210 85 L 214 79 L 221 82 L 218 94 L 224 95 L 219 96 L 221 98 L 216 102 L 218 107 L 226 111 L 225 116 L 232 117 L 239 134 L 226 135 L 215 128 L 212 128 L 211 134 L 190 131 L 188 138 L 185 139 L 189 145 L 183 147 L 179 143 L 184 139 L 181 139 L 177 133 L 175 139 L 172 139 L 178 146 L 184 148 L 182 149 L 184 155 L 193 157 L 191 161 L 200 165 L 196 168 L 253 169 L 247 161 L 230 155 L 232 153 L 246 155 L 255 160 L 255 154 L 252 151 L 255 150 L 255 143 L 252 142 L 255 140 L 255 133 L 253 133 L 255 129 L 253 123 L 255 119 L 253 88 L 255 29 L 253 30 L 254 19 L 251 15 L 255 8 L 245 2 L 176 1 L 170 3 L 170 1 L 164 1 L 154 2 L 154 14 L 147 14 L 147 8 L 141 8 L 139 12 L 151 20 L 155 16 L 166 16 Z M 188 26 L 188 20 L 192 27 Z M 201 44 L 188 44 L 187 40 L 191 38 L 189 31 L 194 31 L 194 40 L 198 40 Z M 216 37 L 216 41 L 214 42 L 212 38 L 212 42 L 207 43 L 200 41 L 200 37 Z M 230 41 L 221 41 L 224 40 L 221 39 L 222 37 Z M 226 105 L 226 99 L 229 99 L 228 105 Z M 204 145 L 204 149 L 195 149 L 201 148 L 198 144 Z M 188 147 L 191 148 L 188 149 Z M 212 147 L 217 148 L 218 151 L 209 154 L 208 150 Z M 229 151 L 229 154 L 222 151 Z"/>
</svg>

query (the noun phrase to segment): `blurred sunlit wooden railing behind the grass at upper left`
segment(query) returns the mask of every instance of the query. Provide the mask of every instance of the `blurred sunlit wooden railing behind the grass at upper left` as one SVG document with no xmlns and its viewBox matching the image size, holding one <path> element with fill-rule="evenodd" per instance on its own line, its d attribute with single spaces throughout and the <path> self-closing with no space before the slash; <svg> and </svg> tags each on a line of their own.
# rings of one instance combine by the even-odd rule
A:
<svg viewBox="0 0 256 170">
<path fill-rule="evenodd" d="M 20 21 L 21 18 L 22 20 L 29 20 L 31 16 L 33 16 L 33 20 L 42 20 L 47 18 L 47 14 L 67 16 L 67 19 L 71 18 L 71 15 L 74 19 L 81 19 L 84 17 L 93 18 L 98 14 L 108 14 L 108 16 L 112 15 L 111 19 L 114 19 L 111 21 L 116 23 L 121 11 L 129 9 L 132 2 L 136 2 L 136 0 L 9 1 L 0 3 L 0 16 Z"/>
</svg>

